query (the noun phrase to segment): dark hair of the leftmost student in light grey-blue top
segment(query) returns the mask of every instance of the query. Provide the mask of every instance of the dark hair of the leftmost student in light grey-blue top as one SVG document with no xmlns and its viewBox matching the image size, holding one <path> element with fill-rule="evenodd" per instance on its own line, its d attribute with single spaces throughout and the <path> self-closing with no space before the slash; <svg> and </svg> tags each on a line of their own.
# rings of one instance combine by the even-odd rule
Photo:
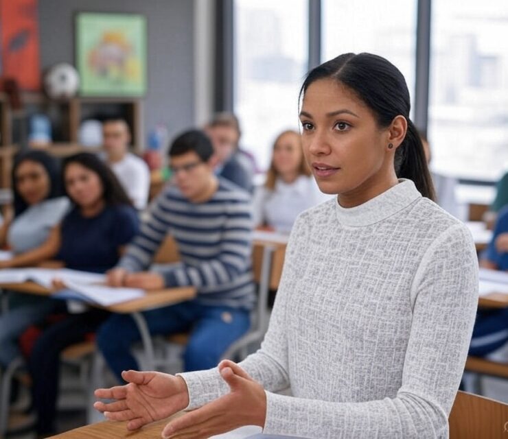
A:
<svg viewBox="0 0 508 439">
<path fill-rule="evenodd" d="M 21 163 L 26 161 L 38 163 L 41 165 L 49 179 L 49 191 L 45 200 L 50 198 L 56 198 L 63 195 L 62 186 L 60 185 L 60 164 L 56 161 L 56 158 L 50 156 L 44 151 L 27 151 L 17 154 L 14 158 L 14 165 L 12 166 L 11 180 L 12 180 L 12 191 L 14 193 L 14 217 L 21 215 L 28 204 L 23 200 L 23 197 L 16 187 L 16 172 L 18 171 Z"/>
</svg>

